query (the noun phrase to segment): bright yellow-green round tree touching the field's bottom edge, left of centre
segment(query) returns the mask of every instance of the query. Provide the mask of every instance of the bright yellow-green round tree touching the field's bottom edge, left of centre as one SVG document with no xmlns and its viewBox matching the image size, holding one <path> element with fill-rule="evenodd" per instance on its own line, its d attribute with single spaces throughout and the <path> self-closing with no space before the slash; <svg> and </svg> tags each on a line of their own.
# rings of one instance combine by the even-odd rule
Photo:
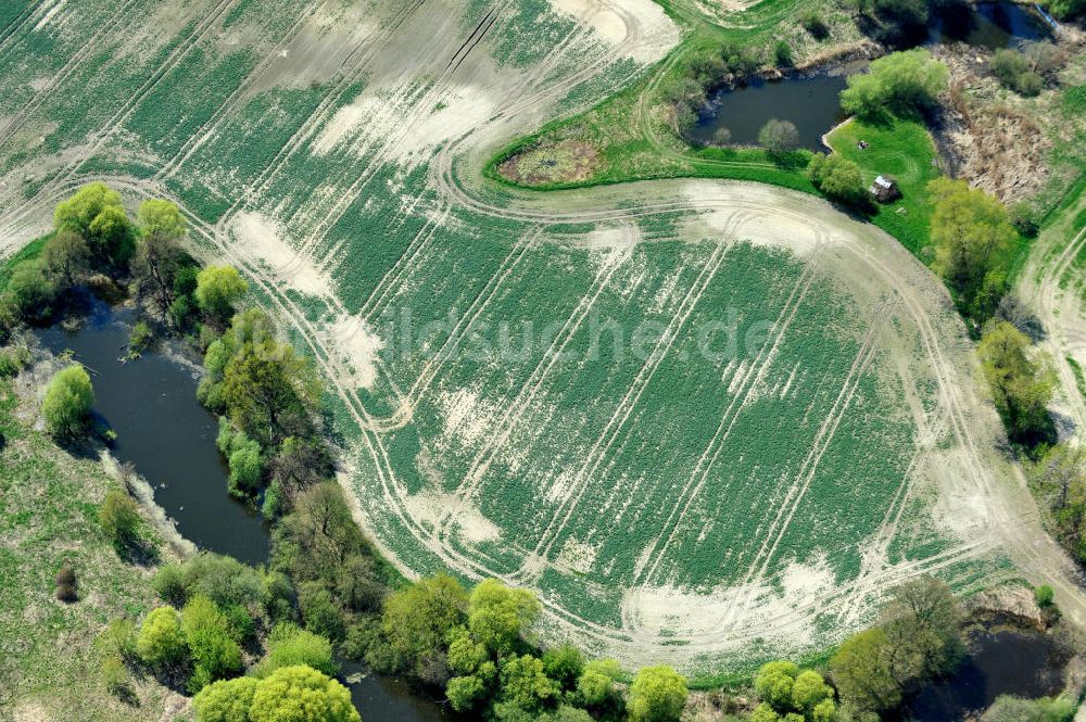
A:
<svg viewBox="0 0 1086 722">
<path fill-rule="evenodd" d="M 542 607 L 528 590 L 512 588 L 487 579 L 471 590 L 468 629 L 471 636 L 497 655 L 513 651 L 539 619 Z"/>
</svg>

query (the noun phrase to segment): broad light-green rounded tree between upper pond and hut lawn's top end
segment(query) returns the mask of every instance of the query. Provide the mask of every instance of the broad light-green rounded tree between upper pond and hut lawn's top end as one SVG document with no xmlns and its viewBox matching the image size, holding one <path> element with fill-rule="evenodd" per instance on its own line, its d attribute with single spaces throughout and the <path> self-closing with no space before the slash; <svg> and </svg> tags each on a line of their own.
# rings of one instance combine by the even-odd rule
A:
<svg viewBox="0 0 1086 722">
<path fill-rule="evenodd" d="M 867 73 L 848 76 L 841 105 L 868 119 L 887 112 L 915 116 L 935 105 L 949 77 L 947 66 L 922 48 L 891 53 L 873 61 Z"/>
</svg>

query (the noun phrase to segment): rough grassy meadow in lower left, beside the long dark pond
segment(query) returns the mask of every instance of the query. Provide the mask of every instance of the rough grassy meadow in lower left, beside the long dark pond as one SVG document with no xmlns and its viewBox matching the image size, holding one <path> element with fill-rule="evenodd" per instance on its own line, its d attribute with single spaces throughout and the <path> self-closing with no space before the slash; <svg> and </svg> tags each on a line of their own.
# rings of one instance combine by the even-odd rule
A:
<svg viewBox="0 0 1086 722">
<path fill-rule="evenodd" d="M 0 379 L 0 709 L 27 720 L 159 719 L 165 687 L 134 680 L 134 698 L 122 701 L 102 683 L 93 645 L 109 619 L 154 606 L 150 571 L 125 563 L 98 523 L 116 482 L 16 408 L 11 380 Z M 79 583 L 75 603 L 53 595 L 65 562 Z"/>
</svg>

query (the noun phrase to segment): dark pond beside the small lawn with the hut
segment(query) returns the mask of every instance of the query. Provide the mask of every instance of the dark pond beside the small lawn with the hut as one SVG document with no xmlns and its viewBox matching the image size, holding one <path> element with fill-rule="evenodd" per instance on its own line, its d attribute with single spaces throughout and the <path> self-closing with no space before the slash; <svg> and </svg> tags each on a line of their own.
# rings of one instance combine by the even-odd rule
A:
<svg viewBox="0 0 1086 722">
<path fill-rule="evenodd" d="M 698 119 L 690 137 L 711 144 L 717 131 L 728 128 L 731 144 L 756 145 L 766 122 L 779 118 L 796 126 L 803 148 L 819 150 L 822 134 L 843 118 L 837 96 L 844 89 L 844 74 L 820 73 L 720 90 L 709 98 L 709 113 Z"/>
</svg>

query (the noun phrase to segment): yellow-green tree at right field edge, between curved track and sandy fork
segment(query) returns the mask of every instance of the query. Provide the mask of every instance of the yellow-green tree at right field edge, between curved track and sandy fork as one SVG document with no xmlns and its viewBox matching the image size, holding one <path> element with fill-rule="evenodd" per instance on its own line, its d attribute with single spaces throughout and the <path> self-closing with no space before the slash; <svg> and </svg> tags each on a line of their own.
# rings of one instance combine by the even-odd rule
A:
<svg viewBox="0 0 1086 722">
<path fill-rule="evenodd" d="M 1052 423 L 1048 403 L 1056 382 L 1043 360 L 1031 358 L 1030 339 L 1007 321 L 996 321 L 981 337 L 977 353 L 1011 438 L 1023 443 L 1047 438 Z"/>
</svg>

